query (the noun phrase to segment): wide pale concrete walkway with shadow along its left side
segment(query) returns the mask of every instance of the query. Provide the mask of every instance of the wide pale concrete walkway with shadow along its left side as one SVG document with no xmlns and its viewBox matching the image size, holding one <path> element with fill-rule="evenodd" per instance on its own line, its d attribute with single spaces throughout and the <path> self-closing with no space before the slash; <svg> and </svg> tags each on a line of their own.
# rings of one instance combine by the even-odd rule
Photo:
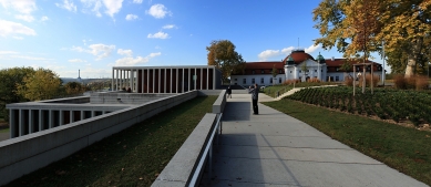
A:
<svg viewBox="0 0 431 187">
<path fill-rule="evenodd" d="M 227 100 L 212 176 L 206 172 L 201 186 L 428 186 L 263 104 L 252 115 L 250 101 Z M 259 94 L 264 101 L 274 98 Z"/>
</svg>

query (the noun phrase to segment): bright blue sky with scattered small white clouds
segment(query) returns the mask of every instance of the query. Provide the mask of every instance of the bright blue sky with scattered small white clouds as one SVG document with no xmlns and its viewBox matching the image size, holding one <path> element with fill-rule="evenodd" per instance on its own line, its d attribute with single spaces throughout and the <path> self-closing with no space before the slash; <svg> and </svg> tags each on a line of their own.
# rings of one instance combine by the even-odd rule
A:
<svg viewBox="0 0 431 187">
<path fill-rule="evenodd" d="M 319 0 L 0 0 L 0 69 L 111 77 L 113 66 L 206 65 L 214 40 L 246 62 L 280 61 L 315 45 Z M 382 63 L 380 56 L 374 62 Z M 387 65 L 386 69 L 390 71 Z"/>
</svg>

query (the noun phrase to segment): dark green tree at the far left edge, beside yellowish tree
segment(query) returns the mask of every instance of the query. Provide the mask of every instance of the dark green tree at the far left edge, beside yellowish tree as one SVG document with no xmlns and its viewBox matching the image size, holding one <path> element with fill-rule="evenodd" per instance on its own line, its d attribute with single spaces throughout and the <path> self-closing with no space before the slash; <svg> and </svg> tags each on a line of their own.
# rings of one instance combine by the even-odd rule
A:
<svg viewBox="0 0 431 187">
<path fill-rule="evenodd" d="M 8 121 L 9 113 L 6 104 L 27 102 L 22 95 L 17 94 L 17 84 L 21 84 L 23 79 L 34 73 L 32 67 L 12 67 L 0 70 L 0 113 Z"/>
</svg>

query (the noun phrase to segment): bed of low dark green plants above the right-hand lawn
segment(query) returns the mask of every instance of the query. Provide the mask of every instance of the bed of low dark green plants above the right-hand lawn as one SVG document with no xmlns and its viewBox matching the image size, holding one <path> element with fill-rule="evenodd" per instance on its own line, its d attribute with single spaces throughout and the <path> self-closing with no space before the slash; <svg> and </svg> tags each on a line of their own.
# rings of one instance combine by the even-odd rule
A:
<svg viewBox="0 0 431 187">
<path fill-rule="evenodd" d="M 430 92 L 376 89 L 374 94 L 362 94 L 357 90 L 355 97 L 352 93 L 352 87 L 346 86 L 304 89 L 288 98 L 360 115 L 365 111 L 366 115 L 381 120 L 410 121 L 414 125 L 431 123 Z M 325 102 L 310 102 L 310 96 Z"/>
</svg>

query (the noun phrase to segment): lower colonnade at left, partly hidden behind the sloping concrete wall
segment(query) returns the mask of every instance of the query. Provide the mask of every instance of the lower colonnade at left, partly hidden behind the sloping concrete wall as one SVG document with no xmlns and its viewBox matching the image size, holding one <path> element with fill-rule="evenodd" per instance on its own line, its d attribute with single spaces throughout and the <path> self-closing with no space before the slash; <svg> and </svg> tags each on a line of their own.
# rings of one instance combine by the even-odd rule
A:
<svg viewBox="0 0 431 187">
<path fill-rule="evenodd" d="M 10 108 L 10 138 L 106 114 L 112 111 Z"/>
</svg>

